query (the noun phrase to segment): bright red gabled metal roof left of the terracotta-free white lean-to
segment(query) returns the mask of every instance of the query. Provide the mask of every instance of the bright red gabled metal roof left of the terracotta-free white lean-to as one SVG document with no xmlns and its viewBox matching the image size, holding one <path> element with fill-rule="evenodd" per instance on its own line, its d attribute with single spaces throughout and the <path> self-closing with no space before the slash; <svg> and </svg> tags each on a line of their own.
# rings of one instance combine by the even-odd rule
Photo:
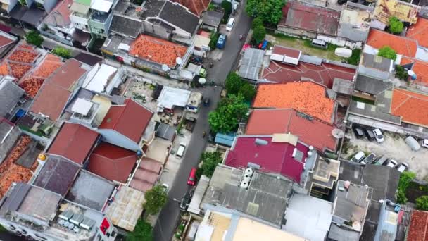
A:
<svg viewBox="0 0 428 241">
<path fill-rule="evenodd" d="M 115 130 L 130 140 L 139 142 L 151 116 L 153 112 L 146 107 L 132 99 L 125 99 L 123 105 L 111 106 L 99 128 Z"/>
</svg>

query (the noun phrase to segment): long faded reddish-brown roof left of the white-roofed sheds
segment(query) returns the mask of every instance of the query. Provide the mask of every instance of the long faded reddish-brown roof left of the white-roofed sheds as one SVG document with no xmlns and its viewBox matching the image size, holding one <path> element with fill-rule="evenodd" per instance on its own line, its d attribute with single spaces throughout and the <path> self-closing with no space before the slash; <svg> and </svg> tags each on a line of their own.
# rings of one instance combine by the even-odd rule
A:
<svg viewBox="0 0 428 241">
<path fill-rule="evenodd" d="M 79 61 L 69 59 L 61 68 L 58 68 L 49 79 L 45 80 L 42 89 L 34 98 L 30 111 L 43 113 L 52 121 L 60 118 L 75 83 L 87 72 L 81 66 L 82 63 Z"/>
</svg>

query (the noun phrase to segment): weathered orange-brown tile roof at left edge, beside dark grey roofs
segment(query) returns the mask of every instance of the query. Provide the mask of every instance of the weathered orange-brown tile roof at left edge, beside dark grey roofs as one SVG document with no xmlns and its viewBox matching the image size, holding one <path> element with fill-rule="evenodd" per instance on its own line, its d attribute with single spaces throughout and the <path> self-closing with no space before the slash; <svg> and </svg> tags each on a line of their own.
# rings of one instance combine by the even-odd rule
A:
<svg viewBox="0 0 428 241">
<path fill-rule="evenodd" d="M 27 183 L 32 177 L 38 162 L 34 160 L 33 166 L 28 169 L 15 164 L 15 161 L 24 154 L 27 147 L 32 142 L 31 137 L 23 135 L 20 137 L 11 153 L 0 165 L 0 199 L 3 198 L 12 183 Z"/>
</svg>

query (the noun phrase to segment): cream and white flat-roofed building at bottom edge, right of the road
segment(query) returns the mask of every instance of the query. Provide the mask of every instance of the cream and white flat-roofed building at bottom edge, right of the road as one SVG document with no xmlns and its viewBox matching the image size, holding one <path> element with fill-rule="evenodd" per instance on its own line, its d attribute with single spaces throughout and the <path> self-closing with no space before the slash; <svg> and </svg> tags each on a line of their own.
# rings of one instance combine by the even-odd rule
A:
<svg viewBox="0 0 428 241">
<path fill-rule="evenodd" d="M 244 241 L 248 237 L 253 240 L 290 240 L 303 241 L 284 230 L 273 228 L 263 222 L 238 211 L 222 206 L 207 205 L 206 214 L 196 230 L 195 240 L 227 240 Z"/>
</svg>

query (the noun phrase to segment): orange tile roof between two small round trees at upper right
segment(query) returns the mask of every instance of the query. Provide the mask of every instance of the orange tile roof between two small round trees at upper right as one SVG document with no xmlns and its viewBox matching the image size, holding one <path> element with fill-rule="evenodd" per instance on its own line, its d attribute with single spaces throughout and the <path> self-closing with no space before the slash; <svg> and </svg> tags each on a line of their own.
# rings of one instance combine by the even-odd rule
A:
<svg viewBox="0 0 428 241">
<path fill-rule="evenodd" d="M 417 42 L 414 39 L 391 35 L 381 30 L 370 29 L 369 37 L 366 44 L 380 49 L 384 46 L 389 46 L 394 49 L 397 54 L 402 54 L 408 57 L 415 57 L 417 50 Z"/>
</svg>

